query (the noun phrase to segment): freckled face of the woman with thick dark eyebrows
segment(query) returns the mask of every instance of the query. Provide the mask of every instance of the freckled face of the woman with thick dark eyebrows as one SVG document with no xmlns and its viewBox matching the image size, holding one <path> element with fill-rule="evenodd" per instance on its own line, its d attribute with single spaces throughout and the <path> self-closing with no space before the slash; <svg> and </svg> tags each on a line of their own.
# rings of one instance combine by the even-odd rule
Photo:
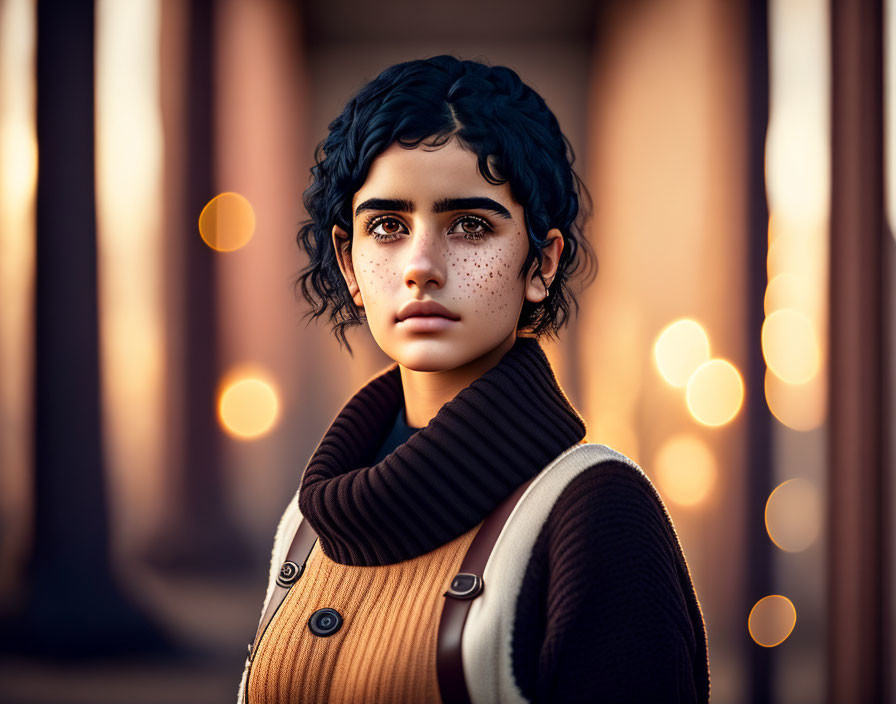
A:
<svg viewBox="0 0 896 704">
<path fill-rule="evenodd" d="M 352 218 L 350 258 L 348 235 L 333 228 L 340 266 L 377 344 L 408 369 L 454 369 L 487 354 L 516 337 L 523 301 L 545 296 L 538 277 L 519 275 L 529 248 L 522 207 L 457 140 L 432 151 L 390 146 L 354 195 Z M 456 320 L 399 320 L 412 301 L 435 301 Z"/>
</svg>

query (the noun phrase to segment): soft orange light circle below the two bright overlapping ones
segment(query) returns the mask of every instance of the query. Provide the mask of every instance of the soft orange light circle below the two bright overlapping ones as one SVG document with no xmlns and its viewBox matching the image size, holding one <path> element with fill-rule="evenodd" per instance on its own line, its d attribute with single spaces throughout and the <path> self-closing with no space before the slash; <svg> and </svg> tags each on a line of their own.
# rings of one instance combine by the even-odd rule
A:
<svg viewBox="0 0 896 704">
<path fill-rule="evenodd" d="M 663 498 L 682 506 L 703 501 L 716 481 L 715 456 L 694 435 L 676 435 L 663 443 L 654 468 Z"/>
</svg>

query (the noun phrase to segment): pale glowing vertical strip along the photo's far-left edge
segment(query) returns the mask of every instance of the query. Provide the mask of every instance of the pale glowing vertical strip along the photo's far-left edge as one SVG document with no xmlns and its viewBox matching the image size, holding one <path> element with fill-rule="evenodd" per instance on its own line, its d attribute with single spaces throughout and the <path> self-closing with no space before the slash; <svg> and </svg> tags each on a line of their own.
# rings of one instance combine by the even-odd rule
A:
<svg viewBox="0 0 896 704">
<path fill-rule="evenodd" d="M 0 587 L 33 523 L 35 2 L 0 2 Z"/>
</svg>

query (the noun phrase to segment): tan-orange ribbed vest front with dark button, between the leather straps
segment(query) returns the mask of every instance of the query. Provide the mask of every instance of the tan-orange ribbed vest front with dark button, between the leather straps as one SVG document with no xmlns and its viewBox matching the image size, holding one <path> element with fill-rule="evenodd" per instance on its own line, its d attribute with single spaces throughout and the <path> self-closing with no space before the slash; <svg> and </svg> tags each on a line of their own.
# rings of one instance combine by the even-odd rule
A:
<svg viewBox="0 0 896 704">
<path fill-rule="evenodd" d="M 482 523 L 431 552 L 392 565 L 333 562 L 314 544 L 258 646 L 250 704 L 441 704 L 436 645 L 443 594 Z M 342 615 L 320 637 L 317 609 Z"/>
</svg>

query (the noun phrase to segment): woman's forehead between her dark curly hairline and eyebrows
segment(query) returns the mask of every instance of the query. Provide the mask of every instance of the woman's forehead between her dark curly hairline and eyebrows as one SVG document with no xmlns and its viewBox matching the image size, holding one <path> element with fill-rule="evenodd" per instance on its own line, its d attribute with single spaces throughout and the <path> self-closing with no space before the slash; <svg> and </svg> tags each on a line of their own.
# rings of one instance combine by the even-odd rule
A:
<svg viewBox="0 0 896 704">
<path fill-rule="evenodd" d="M 497 175 L 497 170 L 493 168 L 492 173 Z M 367 198 L 404 198 L 427 206 L 457 196 L 493 198 L 515 217 L 521 211 L 510 185 L 486 181 L 479 173 L 476 154 L 452 139 L 433 150 L 390 145 L 373 160 L 367 180 L 352 198 L 352 212 Z"/>
</svg>

